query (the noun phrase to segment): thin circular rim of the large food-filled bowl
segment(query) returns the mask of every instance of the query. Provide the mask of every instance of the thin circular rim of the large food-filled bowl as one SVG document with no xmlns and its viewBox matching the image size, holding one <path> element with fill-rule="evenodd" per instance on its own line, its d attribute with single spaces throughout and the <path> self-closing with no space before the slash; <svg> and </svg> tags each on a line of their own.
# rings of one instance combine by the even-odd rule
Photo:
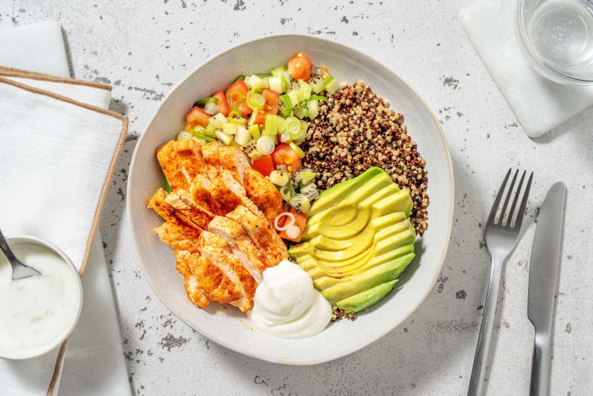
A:
<svg viewBox="0 0 593 396">
<path fill-rule="evenodd" d="M 208 58 L 206 59 L 204 62 L 200 63 L 198 66 L 196 66 L 196 68 L 192 69 L 183 79 L 181 79 L 180 82 L 178 82 L 176 85 L 174 85 L 174 87 L 171 88 L 171 91 L 168 92 L 168 94 L 163 98 L 161 104 L 157 107 L 157 109 L 154 111 L 154 113 L 152 114 L 151 119 L 149 120 L 149 122 L 146 124 L 146 127 L 144 128 L 144 130 L 142 131 L 141 135 L 138 138 L 138 143 L 136 143 L 136 146 L 134 148 L 134 152 L 132 154 L 132 160 L 130 161 L 130 170 L 129 170 L 129 178 L 130 180 L 132 180 L 133 177 L 133 173 L 134 173 L 134 164 L 136 162 L 136 155 L 138 154 L 138 146 L 141 145 L 142 140 L 144 140 L 145 136 L 146 136 L 146 131 L 148 130 L 149 126 L 152 124 L 152 122 L 154 122 L 155 118 L 157 117 L 157 114 L 159 113 L 159 111 L 161 110 L 162 106 L 164 106 L 165 102 L 168 100 L 168 98 L 173 94 L 174 91 L 177 90 L 177 88 L 179 88 L 181 85 L 183 85 L 196 71 L 198 71 L 199 69 L 203 68 L 207 63 L 212 62 L 215 59 L 218 59 L 219 57 L 227 54 L 228 52 L 231 52 L 235 49 L 237 49 L 238 47 L 244 46 L 246 44 L 250 44 L 250 43 L 254 43 L 256 41 L 260 41 L 260 40 L 267 40 L 267 39 L 272 39 L 275 37 L 307 37 L 307 39 L 314 39 L 314 40 L 320 40 L 320 41 L 324 41 L 328 44 L 334 45 L 334 46 L 339 46 L 342 47 L 343 49 L 349 50 L 349 51 L 353 51 L 355 53 L 357 53 L 358 55 L 362 55 L 365 58 L 369 58 L 372 59 L 374 62 L 377 62 L 379 65 L 381 65 L 382 67 L 384 67 L 385 69 L 387 69 L 388 71 L 390 71 L 391 73 L 393 73 L 394 75 L 397 76 L 397 78 L 400 79 L 401 82 L 403 82 L 404 85 L 406 85 L 406 87 L 413 92 L 413 94 L 416 95 L 416 97 L 420 100 L 420 102 L 422 102 L 423 106 L 426 108 L 426 110 L 428 111 L 429 115 L 432 118 L 433 123 L 436 126 L 436 130 L 439 133 L 439 137 L 441 138 L 441 142 L 444 148 L 444 154 L 445 154 L 445 158 L 447 159 L 447 167 L 448 167 L 448 173 L 449 173 L 449 179 L 451 180 L 451 183 L 449 185 L 449 218 L 447 221 L 447 237 L 445 238 L 445 245 L 442 249 L 441 252 L 441 257 L 439 258 L 439 265 L 437 270 L 435 271 L 435 274 L 433 276 L 432 279 L 432 286 L 430 288 L 427 288 L 425 290 L 425 292 L 423 292 L 423 294 L 420 296 L 420 299 L 418 300 L 417 304 L 415 306 L 413 306 L 413 308 L 410 309 L 410 311 L 408 312 L 407 315 L 405 315 L 403 318 L 401 318 L 400 321 L 398 321 L 396 324 L 393 325 L 393 327 L 388 328 L 385 331 L 381 331 L 380 333 L 378 333 L 375 337 L 369 338 L 368 340 L 365 340 L 365 342 L 361 342 L 360 344 L 356 345 L 353 347 L 353 349 L 349 352 L 346 353 L 341 353 L 340 355 L 336 355 L 336 356 L 332 356 L 332 357 L 327 357 L 327 358 L 323 358 L 323 359 L 310 359 L 307 361 L 297 361 L 297 362 L 292 362 L 292 361 L 286 361 L 286 360 L 282 360 L 282 359 L 273 359 L 273 358 L 269 358 L 267 356 L 262 356 L 262 355 L 256 355 L 253 352 L 251 352 L 250 350 L 247 349 L 243 349 L 242 347 L 235 347 L 235 346 L 230 346 L 227 341 L 224 340 L 224 338 L 220 338 L 218 337 L 217 334 L 215 333 L 202 333 L 202 330 L 197 330 L 195 329 L 192 325 L 190 325 L 189 323 L 187 323 L 186 321 L 183 320 L 183 318 L 179 317 L 177 315 L 177 313 L 174 311 L 173 307 L 170 306 L 170 304 L 168 304 L 168 302 L 161 296 L 161 294 L 155 289 L 155 286 L 152 282 L 151 277 L 146 273 L 145 269 L 144 269 L 144 264 L 141 262 L 141 260 L 139 259 L 138 256 L 138 242 L 136 241 L 136 235 L 133 234 L 132 231 L 132 223 L 133 218 L 132 216 L 130 216 L 129 214 L 132 212 L 132 207 L 130 206 L 130 200 L 126 198 L 126 211 L 128 214 L 128 218 L 130 221 L 130 234 L 132 234 L 132 242 L 134 245 L 134 251 L 136 253 L 136 260 L 138 261 L 138 263 L 140 264 L 140 267 L 142 269 L 142 273 L 144 273 L 144 276 L 146 277 L 146 280 L 148 281 L 149 286 L 151 287 L 152 291 L 155 293 L 155 295 L 157 295 L 158 299 L 160 299 L 160 301 L 162 302 L 162 304 L 169 309 L 171 312 L 173 312 L 174 315 L 176 315 L 177 318 L 179 318 L 182 322 L 184 322 L 187 326 L 189 326 L 190 328 L 199 331 L 200 334 L 202 334 L 205 337 L 208 337 L 209 339 L 211 339 L 212 341 L 214 341 L 215 343 L 227 347 L 228 349 L 231 349 L 235 352 L 241 353 L 242 355 L 245 356 L 250 356 L 250 357 L 254 357 L 256 359 L 260 359 L 260 360 L 264 360 L 266 362 L 271 362 L 271 363 L 279 363 L 282 365 L 295 365 L 295 366 L 304 366 L 304 365 L 317 365 L 319 363 L 324 363 L 324 362 L 329 362 L 331 360 L 335 360 L 335 359 L 339 359 L 340 357 L 344 357 L 347 355 L 350 355 L 352 353 L 357 352 L 358 350 L 361 350 L 362 348 L 364 348 L 365 346 L 368 346 L 372 343 L 374 343 L 375 341 L 379 340 L 380 338 L 384 337 L 387 333 L 390 333 L 390 331 L 394 330 L 396 327 L 398 327 L 398 325 L 401 324 L 401 322 L 403 322 L 404 320 L 406 320 L 407 318 L 409 318 L 415 311 L 416 309 L 418 309 L 418 307 L 426 300 L 426 297 L 428 297 L 429 293 L 431 292 L 432 288 L 434 287 L 435 283 L 436 283 L 436 279 L 439 276 L 439 273 L 441 272 L 442 266 L 445 263 L 445 258 L 447 257 L 447 251 L 449 249 L 449 242 L 451 239 L 451 227 L 453 224 L 453 211 L 454 211 L 454 202 L 455 202 L 455 183 L 454 183 L 454 175 L 453 175 L 453 166 L 452 166 L 452 162 L 451 162 L 451 154 L 449 154 L 449 148 L 447 146 L 447 140 L 445 139 L 445 135 L 441 129 L 441 126 L 439 125 L 438 120 L 436 119 L 435 114 L 433 113 L 433 111 L 431 110 L 431 108 L 428 106 L 428 104 L 426 103 L 426 101 L 424 100 L 424 98 L 422 97 L 422 95 L 420 95 L 410 84 L 408 84 L 408 82 L 406 80 L 404 80 L 403 78 L 401 78 L 400 75 L 396 74 L 396 72 L 394 72 L 393 70 L 391 70 L 391 68 L 389 68 L 388 66 L 385 66 L 384 63 L 380 62 L 379 60 L 372 58 L 372 56 L 367 55 L 364 52 L 361 52 L 357 49 L 354 49 L 352 47 L 347 47 L 345 44 L 339 43 L 337 41 L 333 41 L 333 40 L 328 40 L 328 39 L 324 39 L 323 37 L 316 37 L 316 36 L 311 36 L 310 34 L 298 34 L 298 33 L 278 33 L 278 34 L 269 34 L 267 36 L 264 37 L 259 37 L 257 39 L 253 39 L 253 40 L 247 40 L 247 41 L 243 41 L 242 43 L 239 43 L 235 46 L 229 47 L 228 49 L 219 52 L 217 55 L 213 56 L 212 58 Z M 127 184 L 127 189 L 126 189 L 126 197 L 130 197 L 130 183 Z M 270 336 L 271 337 L 271 336 Z"/>
</svg>

